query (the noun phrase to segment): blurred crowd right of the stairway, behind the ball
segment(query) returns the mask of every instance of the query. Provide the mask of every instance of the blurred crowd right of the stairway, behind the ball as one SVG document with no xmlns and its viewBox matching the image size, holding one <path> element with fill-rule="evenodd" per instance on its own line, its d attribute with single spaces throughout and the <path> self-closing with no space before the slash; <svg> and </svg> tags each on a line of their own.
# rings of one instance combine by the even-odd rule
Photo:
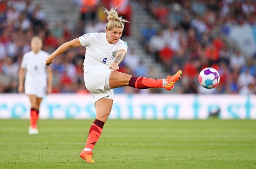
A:
<svg viewBox="0 0 256 169">
<path fill-rule="evenodd" d="M 255 0 L 140 0 L 160 28 L 148 23 L 142 30 L 145 50 L 155 56 L 167 72 L 184 73 L 180 93 L 256 93 L 255 56 L 214 34 L 227 25 L 256 25 Z M 198 74 L 212 67 L 220 73 L 220 84 L 207 90 L 198 84 Z"/>
</svg>

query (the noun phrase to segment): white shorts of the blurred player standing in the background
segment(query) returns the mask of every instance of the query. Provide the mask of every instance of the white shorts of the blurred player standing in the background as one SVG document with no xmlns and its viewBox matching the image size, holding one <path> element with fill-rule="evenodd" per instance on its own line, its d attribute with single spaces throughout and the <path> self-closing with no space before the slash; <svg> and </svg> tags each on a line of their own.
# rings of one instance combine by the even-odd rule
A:
<svg viewBox="0 0 256 169">
<path fill-rule="evenodd" d="M 46 82 L 35 82 L 25 80 L 25 94 L 36 95 L 38 98 L 43 98 L 46 95 Z"/>
</svg>

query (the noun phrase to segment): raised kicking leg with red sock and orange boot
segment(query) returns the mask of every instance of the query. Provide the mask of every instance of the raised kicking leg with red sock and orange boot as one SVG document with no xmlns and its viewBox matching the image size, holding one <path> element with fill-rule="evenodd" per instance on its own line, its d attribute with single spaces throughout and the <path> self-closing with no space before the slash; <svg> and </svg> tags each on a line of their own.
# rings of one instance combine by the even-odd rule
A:
<svg viewBox="0 0 256 169">
<path fill-rule="evenodd" d="M 182 71 L 178 71 L 173 76 L 167 76 L 167 79 L 152 79 L 147 77 L 135 77 L 118 71 L 112 71 L 109 77 L 109 86 L 111 89 L 130 86 L 138 89 L 164 87 L 167 90 L 173 90 L 174 84 L 181 77 L 181 74 Z"/>
</svg>

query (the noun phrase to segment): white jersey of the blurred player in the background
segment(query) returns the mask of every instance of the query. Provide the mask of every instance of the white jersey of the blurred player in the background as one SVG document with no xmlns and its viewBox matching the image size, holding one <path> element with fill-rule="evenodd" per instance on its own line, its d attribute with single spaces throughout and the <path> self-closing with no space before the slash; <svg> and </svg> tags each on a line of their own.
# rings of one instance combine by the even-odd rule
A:
<svg viewBox="0 0 256 169">
<path fill-rule="evenodd" d="M 40 50 L 39 53 L 33 51 L 27 52 L 23 55 L 21 67 L 27 69 L 25 81 L 27 82 L 43 82 L 47 80 L 47 72 L 45 60 L 48 53 Z"/>
</svg>

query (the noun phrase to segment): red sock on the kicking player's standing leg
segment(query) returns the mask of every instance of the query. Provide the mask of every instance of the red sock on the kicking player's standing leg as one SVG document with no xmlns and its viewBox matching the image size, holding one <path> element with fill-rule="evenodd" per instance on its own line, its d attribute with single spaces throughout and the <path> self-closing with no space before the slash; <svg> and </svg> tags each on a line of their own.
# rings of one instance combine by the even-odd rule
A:
<svg viewBox="0 0 256 169">
<path fill-rule="evenodd" d="M 95 121 L 92 123 L 91 128 L 89 130 L 89 136 L 87 138 L 86 144 L 84 148 L 89 148 L 93 150 L 93 147 L 97 143 L 100 134 L 102 132 L 104 122 L 95 119 Z"/>
</svg>

